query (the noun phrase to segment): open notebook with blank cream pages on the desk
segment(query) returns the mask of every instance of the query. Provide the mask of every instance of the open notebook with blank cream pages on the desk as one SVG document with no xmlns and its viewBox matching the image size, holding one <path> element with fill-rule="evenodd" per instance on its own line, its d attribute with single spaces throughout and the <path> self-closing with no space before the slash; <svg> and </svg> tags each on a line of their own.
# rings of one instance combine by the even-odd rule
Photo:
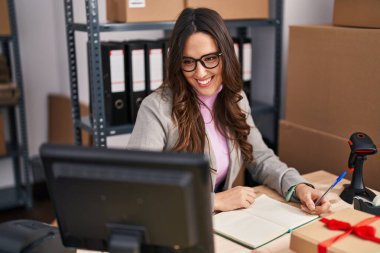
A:
<svg viewBox="0 0 380 253">
<path fill-rule="evenodd" d="M 318 217 L 261 195 L 249 208 L 214 215 L 213 222 L 217 234 L 255 249 Z"/>
</svg>

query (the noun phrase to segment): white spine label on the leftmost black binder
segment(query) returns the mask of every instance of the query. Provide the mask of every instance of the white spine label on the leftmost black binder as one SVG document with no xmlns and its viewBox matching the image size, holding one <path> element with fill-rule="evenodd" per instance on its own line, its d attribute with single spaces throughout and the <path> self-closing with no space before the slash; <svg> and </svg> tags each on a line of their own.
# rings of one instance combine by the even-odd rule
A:
<svg viewBox="0 0 380 253">
<path fill-rule="evenodd" d="M 110 51 L 111 92 L 125 91 L 124 51 Z"/>
</svg>

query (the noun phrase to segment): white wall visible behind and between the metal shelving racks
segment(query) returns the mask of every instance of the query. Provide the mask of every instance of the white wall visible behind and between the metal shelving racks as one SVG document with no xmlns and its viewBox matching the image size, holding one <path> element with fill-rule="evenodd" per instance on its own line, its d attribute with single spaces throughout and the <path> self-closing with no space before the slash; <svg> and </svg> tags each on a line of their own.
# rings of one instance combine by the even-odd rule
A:
<svg viewBox="0 0 380 253">
<path fill-rule="evenodd" d="M 76 22 L 85 22 L 85 1 L 73 2 L 75 4 Z M 40 144 L 47 140 L 47 95 L 49 93 L 69 95 L 70 93 L 64 8 L 62 0 L 15 0 L 15 3 L 25 86 L 29 153 L 30 156 L 33 156 L 38 153 Z M 285 0 L 284 4 L 283 80 L 286 78 L 287 69 L 288 26 L 292 24 L 331 23 L 333 1 Z M 105 0 L 99 0 L 99 19 L 105 21 Z M 87 36 L 85 33 L 77 33 L 80 100 L 88 103 L 85 47 Z M 101 38 L 104 40 L 155 39 L 162 36 L 162 31 L 101 34 Z M 268 37 L 261 41 L 260 38 L 255 39 L 259 40 L 258 43 L 266 44 Z M 268 90 L 270 89 L 271 87 L 268 86 Z M 115 138 L 113 137 L 113 139 Z M 125 141 L 122 140 L 121 142 Z M 9 162 L 2 161 L 0 162 L 0 187 L 12 184 L 11 165 Z"/>
</svg>

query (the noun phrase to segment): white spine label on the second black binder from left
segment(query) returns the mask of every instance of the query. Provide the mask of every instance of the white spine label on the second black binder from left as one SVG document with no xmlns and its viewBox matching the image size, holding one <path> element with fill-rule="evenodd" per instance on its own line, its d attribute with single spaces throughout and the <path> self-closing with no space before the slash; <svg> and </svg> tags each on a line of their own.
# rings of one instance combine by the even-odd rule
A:
<svg viewBox="0 0 380 253">
<path fill-rule="evenodd" d="M 144 49 L 132 50 L 132 91 L 145 91 Z"/>
</svg>

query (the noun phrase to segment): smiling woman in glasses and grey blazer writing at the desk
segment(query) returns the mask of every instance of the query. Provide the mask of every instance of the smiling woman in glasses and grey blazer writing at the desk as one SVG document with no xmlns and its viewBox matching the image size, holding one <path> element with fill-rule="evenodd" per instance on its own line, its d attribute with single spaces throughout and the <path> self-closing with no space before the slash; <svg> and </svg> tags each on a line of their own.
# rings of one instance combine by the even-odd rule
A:
<svg viewBox="0 0 380 253">
<path fill-rule="evenodd" d="M 254 181 L 281 195 L 293 192 L 305 212 L 327 212 L 327 200 L 314 205 L 321 192 L 263 142 L 220 15 L 205 8 L 185 9 L 169 46 L 164 84 L 142 102 L 128 148 L 208 155 L 215 211 L 247 208 L 254 202 L 252 188 L 234 187 L 247 169 Z"/>
</svg>

